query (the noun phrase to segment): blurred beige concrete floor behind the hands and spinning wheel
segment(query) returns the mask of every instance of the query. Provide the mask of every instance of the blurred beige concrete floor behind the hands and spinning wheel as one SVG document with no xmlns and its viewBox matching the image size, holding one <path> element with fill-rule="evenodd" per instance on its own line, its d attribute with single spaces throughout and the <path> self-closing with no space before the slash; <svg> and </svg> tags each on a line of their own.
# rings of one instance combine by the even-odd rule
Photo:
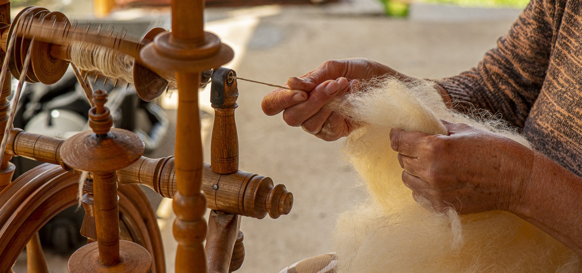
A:
<svg viewBox="0 0 582 273">
<path fill-rule="evenodd" d="M 495 11 L 487 11 L 492 16 L 475 16 L 476 21 L 470 16 L 448 20 L 446 13 L 442 20 L 434 14 L 423 17 L 418 13 L 407 20 L 278 6 L 208 12 L 208 29 L 235 48 L 236 58 L 226 66 L 234 68 L 240 77 L 278 84 L 328 59 L 351 57 L 385 63 L 412 76 L 455 75 L 474 66 L 487 49 L 494 47 L 496 38 L 509 29 L 519 13 L 496 16 Z M 243 218 L 246 257 L 237 271 L 241 273 L 279 272 L 295 261 L 331 251 L 330 234 L 336 215 L 364 198 L 354 183 L 356 174 L 342 161 L 340 141 L 316 139 L 300 128 L 287 126 L 281 115 L 262 114 L 261 99 L 271 90 L 239 81 L 236 120 L 240 169 L 286 185 L 293 192 L 294 206 L 289 215 L 279 219 Z M 166 98 L 164 103 L 172 108 L 172 100 Z M 168 111 L 173 119 L 175 111 Z M 166 147 L 152 157 L 173 154 L 173 132 L 167 139 Z M 205 140 L 204 157 L 208 162 L 210 139 Z M 166 261 L 168 270 L 173 271 L 173 214 L 164 209 L 163 203 L 158 212 L 164 216 Z M 51 263 L 63 264 L 56 260 Z M 19 265 L 16 272 L 26 271 L 22 261 Z M 52 268 L 51 272 L 66 272 L 65 267 Z"/>
</svg>

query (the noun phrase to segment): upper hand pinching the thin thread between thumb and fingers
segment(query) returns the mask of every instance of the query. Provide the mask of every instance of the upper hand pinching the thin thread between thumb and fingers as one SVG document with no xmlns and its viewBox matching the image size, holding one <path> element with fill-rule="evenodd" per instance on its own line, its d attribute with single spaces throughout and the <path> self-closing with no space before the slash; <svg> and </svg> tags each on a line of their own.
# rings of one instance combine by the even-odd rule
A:
<svg viewBox="0 0 582 273">
<path fill-rule="evenodd" d="M 301 77 L 290 77 L 287 84 L 292 90 L 275 89 L 262 100 L 262 111 L 272 116 L 283 111 L 283 120 L 320 139 L 333 141 L 347 136 L 357 125 L 343 116 L 322 109 L 335 97 L 341 97 L 357 84 L 358 79 L 392 74 L 395 70 L 363 58 L 324 62 L 319 68 Z"/>
</svg>

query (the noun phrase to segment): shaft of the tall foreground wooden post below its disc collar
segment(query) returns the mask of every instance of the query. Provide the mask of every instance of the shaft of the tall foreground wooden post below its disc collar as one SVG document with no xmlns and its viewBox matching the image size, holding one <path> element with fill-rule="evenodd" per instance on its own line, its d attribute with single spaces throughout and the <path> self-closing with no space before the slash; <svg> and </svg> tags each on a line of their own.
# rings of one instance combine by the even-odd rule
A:
<svg viewBox="0 0 582 273">
<path fill-rule="evenodd" d="M 178 192 L 173 199 L 176 213 L 173 231 L 178 241 L 176 272 L 196 270 L 205 273 L 207 265 L 203 242 L 206 239 L 206 221 L 203 217 L 206 197 L 200 192 L 203 164 L 198 112 L 200 74 L 176 73 L 176 79 L 179 92 L 175 151 Z"/>
</svg>

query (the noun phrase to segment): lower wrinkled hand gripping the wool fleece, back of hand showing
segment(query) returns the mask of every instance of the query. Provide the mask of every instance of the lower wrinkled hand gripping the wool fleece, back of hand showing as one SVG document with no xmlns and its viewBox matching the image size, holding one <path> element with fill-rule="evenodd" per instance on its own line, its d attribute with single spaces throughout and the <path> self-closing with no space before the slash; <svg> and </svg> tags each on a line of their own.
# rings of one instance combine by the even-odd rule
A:
<svg viewBox="0 0 582 273">
<path fill-rule="evenodd" d="M 404 185 L 413 197 L 460 214 L 515 211 L 531 176 L 534 151 L 506 137 L 463 123 L 443 121 L 449 131 L 430 136 L 392 129 Z"/>
</svg>

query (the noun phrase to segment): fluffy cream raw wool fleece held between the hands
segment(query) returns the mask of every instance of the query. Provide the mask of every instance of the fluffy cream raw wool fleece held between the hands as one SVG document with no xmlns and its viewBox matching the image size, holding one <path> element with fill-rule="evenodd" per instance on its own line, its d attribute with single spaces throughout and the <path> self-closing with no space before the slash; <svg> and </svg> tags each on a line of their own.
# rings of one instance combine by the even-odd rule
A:
<svg viewBox="0 0 582 273">
<path fill-rule="evenodd" d="M 347 137 L 343 151 L 370 193 L 336 222 L 338 272 L 581 272 L 577 254 L 509 212 L 458 215 L 416 203 L 402 183 L 389 133 L 396 127 L 446 134 L 444 119 L 530 147 L 524 137 L 491 115 L 478 121 L 450 110 L 430 81 L 383 78 L 359 89 L 328 105 L 363 125 Z"/>
</svg>

